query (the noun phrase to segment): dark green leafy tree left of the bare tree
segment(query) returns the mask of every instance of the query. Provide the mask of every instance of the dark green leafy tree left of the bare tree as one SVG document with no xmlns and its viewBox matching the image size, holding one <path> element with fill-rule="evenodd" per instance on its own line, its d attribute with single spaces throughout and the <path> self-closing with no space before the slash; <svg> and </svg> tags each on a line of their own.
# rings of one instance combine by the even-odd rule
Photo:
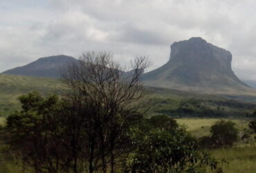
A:
<svg viewBox="0 0 256 173">
<path fill-rule="evenodd" d="M 57 95 L 43 98 L 38 93 L 29 93 L 19 98 L 22 111 L 16 111 L 7 118 L 3 132 L 13 154 L 26 169 L 35 172 L 57 172 L 66 160 L 67 150 L 59 147 L 60 136 L 65 135 L 57 117 Z"/>
</svg>

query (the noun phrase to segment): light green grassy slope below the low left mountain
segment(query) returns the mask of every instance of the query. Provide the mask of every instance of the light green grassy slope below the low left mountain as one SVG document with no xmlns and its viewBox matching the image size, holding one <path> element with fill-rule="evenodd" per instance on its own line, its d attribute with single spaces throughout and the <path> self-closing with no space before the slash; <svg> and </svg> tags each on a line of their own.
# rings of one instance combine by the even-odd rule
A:
<svg viewBox="0 0 256 173">
<path fill-rule="evenodd" d="M 17 98 L 28 92 L 57 93 L 64 89 L 60 80 L 19 75 L 0 75 L 0 116 L 7 116 L 20 107 Z"/>
</svg>

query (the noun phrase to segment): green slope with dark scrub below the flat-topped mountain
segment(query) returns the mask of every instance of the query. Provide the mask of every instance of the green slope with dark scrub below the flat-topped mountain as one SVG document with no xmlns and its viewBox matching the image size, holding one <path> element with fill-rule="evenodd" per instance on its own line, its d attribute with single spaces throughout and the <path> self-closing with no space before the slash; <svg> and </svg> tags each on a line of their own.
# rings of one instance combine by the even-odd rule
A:
<svg viewBox="0 0 256 173">
<path fill-rule="evenodd" d="M 254 103 L 228 100 L 216 95 L 203 95 L 170 89 L 148 88 L 140 102 L 149 107 L 147 116 L 184 117 L 251 117 Z"/>
</svg>

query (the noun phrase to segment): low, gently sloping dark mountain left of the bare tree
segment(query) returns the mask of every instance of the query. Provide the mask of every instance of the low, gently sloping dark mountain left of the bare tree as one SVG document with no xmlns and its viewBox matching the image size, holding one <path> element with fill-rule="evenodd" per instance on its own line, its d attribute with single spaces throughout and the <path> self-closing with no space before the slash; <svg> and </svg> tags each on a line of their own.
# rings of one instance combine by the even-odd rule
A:
<svg viewBox="0 0 256 173">
<path fill-rule="evenodd" d="M 20 66 L 15 69 L 4 71 L 3 74 L 26 75 L 45 78 L 60 78 L 61 69 L 68 63 L 76 62 L 74 57 L 66 55 L 56 55 L 51 57 L 41 57 L 37 61 Z"/>
</svg>

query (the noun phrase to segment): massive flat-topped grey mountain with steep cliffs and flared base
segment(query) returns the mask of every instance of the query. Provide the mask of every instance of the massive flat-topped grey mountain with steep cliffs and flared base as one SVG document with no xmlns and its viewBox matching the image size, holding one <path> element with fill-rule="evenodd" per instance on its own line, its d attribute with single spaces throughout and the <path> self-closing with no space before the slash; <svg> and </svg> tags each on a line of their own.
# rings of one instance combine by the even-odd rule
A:
<svg viewBox="0 0 256 173">
<path fill-rule="evenodd" d="M 248 89 L 231 68 L 229 51 L 209 44 L 200 37 L 174 42 L 170 60 L 145 73 L 146 85 L 188 91 L 231 91 Z"/>
</svg>

